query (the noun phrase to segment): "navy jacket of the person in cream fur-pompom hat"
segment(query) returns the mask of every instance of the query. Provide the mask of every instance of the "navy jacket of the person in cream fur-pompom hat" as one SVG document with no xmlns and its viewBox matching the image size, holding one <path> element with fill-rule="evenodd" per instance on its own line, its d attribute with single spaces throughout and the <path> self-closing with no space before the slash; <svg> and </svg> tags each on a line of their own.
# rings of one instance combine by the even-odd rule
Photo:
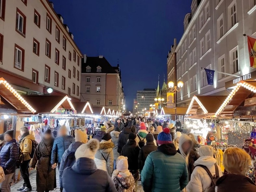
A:
<svg viewBox="0 0 256 192">
<path fill-rule="evenodd" d="M 72 167 L 64 169 L 63 192 L 116 192 L 108 173 L 97 169 L 94 160 L 79 158 Z"/>
</svg>

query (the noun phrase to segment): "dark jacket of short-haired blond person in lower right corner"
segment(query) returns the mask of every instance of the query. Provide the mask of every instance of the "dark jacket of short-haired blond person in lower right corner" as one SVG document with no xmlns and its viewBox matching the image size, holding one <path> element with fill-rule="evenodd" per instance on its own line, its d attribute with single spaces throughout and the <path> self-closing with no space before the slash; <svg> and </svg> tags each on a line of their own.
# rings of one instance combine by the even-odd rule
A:
<svg viewBox="0 0 256 192">
<path fill-rule="evenodd" d="M 248 177 L 235 174 L 226 174 L 218 179 L 216 183 L 218 192 L 227 191 L 244 191 L 255 192 L 256 185 Z M 211 187 L 208 192 L 215 192 L 215 186 Z"/>
</svg>

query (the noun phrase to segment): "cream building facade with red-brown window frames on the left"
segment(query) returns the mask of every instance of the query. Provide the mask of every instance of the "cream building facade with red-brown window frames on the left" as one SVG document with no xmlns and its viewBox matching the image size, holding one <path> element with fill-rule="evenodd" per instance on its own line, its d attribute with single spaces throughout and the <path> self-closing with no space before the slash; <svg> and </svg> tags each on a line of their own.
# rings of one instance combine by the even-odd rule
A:
<svg viewBox="0 0 256 192">
<path fill-rule="evenodd" d="M 0 77 L 20 94 L 80 100 L 81 51 L 48 0 L 0 1 Z"/>
</svg>

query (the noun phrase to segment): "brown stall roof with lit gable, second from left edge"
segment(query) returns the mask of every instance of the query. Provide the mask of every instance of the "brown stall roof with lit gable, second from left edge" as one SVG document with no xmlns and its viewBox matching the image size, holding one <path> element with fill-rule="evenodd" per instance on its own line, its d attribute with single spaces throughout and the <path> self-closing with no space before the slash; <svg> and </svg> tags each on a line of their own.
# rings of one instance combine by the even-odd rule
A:
<svg viewBox="0 0 256 192">
<path fill-rule="evenodd" d="M 38 113 L 55 113 L 58 108 L 73 109 L 68 96 L 24 96 Z"/>
</svg>

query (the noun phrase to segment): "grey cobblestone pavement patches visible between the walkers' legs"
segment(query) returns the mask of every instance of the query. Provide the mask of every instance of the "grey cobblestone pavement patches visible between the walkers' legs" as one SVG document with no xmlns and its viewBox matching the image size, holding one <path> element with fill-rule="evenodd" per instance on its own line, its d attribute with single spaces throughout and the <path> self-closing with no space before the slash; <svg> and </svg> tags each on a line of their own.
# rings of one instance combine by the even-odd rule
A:
<svg viewBox="0 0 256 192">
<path fill-rule="evenodd" d="M 16 178 L 17 178 L 18 172 L 16 173 Z M 58 168 L 56 170 L 56 175 L 57 175 L 57 188 L 54 189 L 54 191 L 58 191 L 60 192 L 59 189 L 59 172 L 58 172 Z M 30 182 L 32 185 L 32 191 L 36 191 L 36 171 L 32 171 L 30 174 Z M 11 192 L 17 191 L 18 188 L 20 188 L 23 184 L 23 179 L 20 176 L 19 181 L 16 181 L 15 184 L 13 186 L 11 186 Z M 138 182 L 138 189 L 137 192 L 144 192 L 141 186 L 141 182 Z"/>
</svg>

